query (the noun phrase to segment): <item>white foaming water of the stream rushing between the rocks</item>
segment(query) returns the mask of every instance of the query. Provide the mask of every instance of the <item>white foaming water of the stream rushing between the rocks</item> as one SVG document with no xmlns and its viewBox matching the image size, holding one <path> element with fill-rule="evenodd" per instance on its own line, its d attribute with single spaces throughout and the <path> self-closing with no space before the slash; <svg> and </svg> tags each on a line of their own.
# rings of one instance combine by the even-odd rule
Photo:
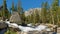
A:
<svg viewBox="0 0 60 34">
<path fill-rule="evenodd" d="M 27 26 L 24 27 L 24 26 L 21 26 L 21 25 L 17 25 L 16 23 L 10 23 L 9 21 L 6 21 L 6 23 L 8 24 L 9 27 L 19 28 L 23 32 L 42 31 L 42 30 L 51 31 L 49 28 L 47 28 L 48 26 L 45 26 L 45 25 L 39 25 L 35 28 L 32 28 L 32 27 L 27 27 Z M 28 25 L 31 26 L 31 24 L 28 24 Z"/>
</svg>

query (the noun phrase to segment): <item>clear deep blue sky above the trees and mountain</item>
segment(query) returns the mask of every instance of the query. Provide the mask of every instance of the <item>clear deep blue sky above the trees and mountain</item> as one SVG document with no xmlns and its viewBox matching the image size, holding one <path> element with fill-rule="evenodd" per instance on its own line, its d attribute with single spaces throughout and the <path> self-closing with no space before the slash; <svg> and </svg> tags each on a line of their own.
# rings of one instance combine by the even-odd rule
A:
<svg viewBox="0 0 60 34">
<path fill-rule="evenodd" d="M 13 0 L 15 6 L 18 3 L 18 0 Z M 52 0 L 21 0 L 21 6 L 24 10 L 28 10 L 30 8 L 41 8 L 42 2 L 48 1 L 49 5 L 52 3 Z M 3 4 L 3 0 L 0 0 L 0 6 Z M 7 0 L 8 9 L 12 6 L 12 0 Z"/>
</svg>

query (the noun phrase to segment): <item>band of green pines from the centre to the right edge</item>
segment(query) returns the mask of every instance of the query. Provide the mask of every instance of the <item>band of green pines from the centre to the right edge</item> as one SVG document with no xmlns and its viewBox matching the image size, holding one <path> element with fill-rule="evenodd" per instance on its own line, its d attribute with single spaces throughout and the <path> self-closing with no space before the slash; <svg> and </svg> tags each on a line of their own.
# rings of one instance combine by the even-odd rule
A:
<svg viewBox="0 0 60 34">
<path fill-rule="evenodd" d="M 50 23 L 58 25 L 60 24 L 60 6 L 59 0 L 53 0 L 51 6 L 48 2 L 42 2 L 41 13 L 35 10 L 33 14 L 27 16 L 27 23 Z"/>
</svg>

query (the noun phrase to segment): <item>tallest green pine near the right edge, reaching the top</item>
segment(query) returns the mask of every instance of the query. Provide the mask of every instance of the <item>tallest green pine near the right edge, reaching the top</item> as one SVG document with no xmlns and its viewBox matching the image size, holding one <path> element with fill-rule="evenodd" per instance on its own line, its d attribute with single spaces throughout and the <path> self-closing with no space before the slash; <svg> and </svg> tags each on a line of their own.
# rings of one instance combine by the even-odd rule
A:
<svg viewBox="0 0 60 34">
<path fill-rule="evenodd" d="M 53 11 L 53 16 L 54 16 L 54 23 L 53 24 L 57 24 L 57 20 L 58 20 L 58 17 L 57 17 L 57 10 L 58 10 L 58 7 L 59 7 L 59 0 L 54 0 L 53 4 L 52 4 L 52 11 Z"/>
</svg>

